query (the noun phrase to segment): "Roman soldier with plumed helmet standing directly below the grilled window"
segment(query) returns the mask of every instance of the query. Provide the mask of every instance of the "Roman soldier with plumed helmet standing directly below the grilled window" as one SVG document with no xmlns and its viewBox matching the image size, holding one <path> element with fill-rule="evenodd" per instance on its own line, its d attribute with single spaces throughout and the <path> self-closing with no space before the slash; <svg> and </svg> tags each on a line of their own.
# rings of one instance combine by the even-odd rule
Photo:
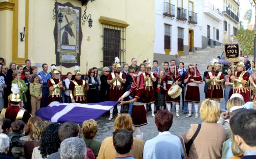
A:
<svg viewBox="0 0 256 159">
<path fill-rule="evenodd" d="M 108 83 L 111 85 L 110 87 L 110 101 L 117 101 L 123 94 L 123 86 L 122 84 L 126 81 L 126 75 L 120 72 L 121 65 L 119 64 L 120 60 L 118 57 L 115 58 L 115 71 L 109 74 Z M 110 109 L 110 118 L 113 118 L 113 110 Z M 117 105 L 117 114 L 121 113 L 121 105 Z"/>
</svg>

